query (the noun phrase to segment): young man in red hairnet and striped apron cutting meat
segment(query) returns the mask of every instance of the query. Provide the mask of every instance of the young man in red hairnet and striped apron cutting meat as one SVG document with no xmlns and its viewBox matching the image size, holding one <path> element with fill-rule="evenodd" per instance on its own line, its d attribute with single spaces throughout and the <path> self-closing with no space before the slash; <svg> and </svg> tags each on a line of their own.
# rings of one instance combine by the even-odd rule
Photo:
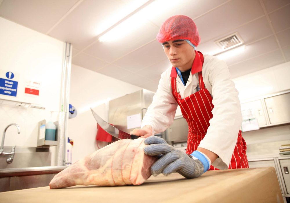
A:
<svg viewBox="0 0 290 203">
<path fill-rule="evenodd" d="M 161 157 L 151 173 L 193 178 L 207 170 L 248 168 L 238 91 L 225 62 L 195 50 L 200 37 L 187 16 L 168 18 L 156 38 L 173 67 L 162 73 L 142 128 L 131 132 L 148 137 L 146 154 Z M 189 126 L 186 153 L 151 136 L 172 124 L 177 105 Z"/>
</svg>

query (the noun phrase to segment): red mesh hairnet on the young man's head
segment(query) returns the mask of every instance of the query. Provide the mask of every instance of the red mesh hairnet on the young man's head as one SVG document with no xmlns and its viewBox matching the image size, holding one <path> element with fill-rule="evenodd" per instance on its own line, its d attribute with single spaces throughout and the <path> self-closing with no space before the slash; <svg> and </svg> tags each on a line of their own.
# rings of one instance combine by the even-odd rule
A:
<svg viewBox="0 0 290 203">
<path fill-rule="evenodd" d="M 160 43 L 177 39 L 187 39 L 195 46 L 200 43 L 195 23 L 185 15 L 175 15 L 168 18 L 162 24 L 156 39 Z"/>
</svg>

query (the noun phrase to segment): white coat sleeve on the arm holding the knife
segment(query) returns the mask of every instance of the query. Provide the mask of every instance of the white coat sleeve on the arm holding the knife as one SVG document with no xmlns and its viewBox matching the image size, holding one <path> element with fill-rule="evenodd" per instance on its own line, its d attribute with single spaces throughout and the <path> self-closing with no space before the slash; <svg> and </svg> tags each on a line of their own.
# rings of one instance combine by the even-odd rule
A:
<svg viewBox="0 0 290 203">
<path fill-rule="evenodd" d="M 170 72 L 167 70 L 161 75 L 153 101 L 142 119 L 141 128 L 150 125 L 153 135 L 165 131 L 173 123 L 177 105 L 172 95 Z"/>
</svg>

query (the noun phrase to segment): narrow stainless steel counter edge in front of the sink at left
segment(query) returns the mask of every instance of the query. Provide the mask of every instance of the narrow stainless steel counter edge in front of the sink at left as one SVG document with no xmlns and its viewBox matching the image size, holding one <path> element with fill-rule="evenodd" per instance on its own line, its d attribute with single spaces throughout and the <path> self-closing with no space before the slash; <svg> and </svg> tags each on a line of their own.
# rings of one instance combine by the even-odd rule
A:
<svg viewBox="0 0 290 203">
<path fill-rule="evenodd" d="M 59 173 L 68 166 L 43 166 L 27 168 L 1 168 L 0 177 L 21 176 L 21 175 L 40 175 Z"/>
</svg>

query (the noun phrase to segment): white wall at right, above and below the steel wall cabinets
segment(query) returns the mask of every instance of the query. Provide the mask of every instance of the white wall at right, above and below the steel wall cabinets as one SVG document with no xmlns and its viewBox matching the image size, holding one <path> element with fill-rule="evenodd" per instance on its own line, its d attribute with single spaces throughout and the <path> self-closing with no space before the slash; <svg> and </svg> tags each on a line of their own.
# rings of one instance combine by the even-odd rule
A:
<svg viewBox="0 0 290 203">
<path fill-rule="evenodd" d="M 290 62 L 234 78 L 241 102 L 290 89 Z M 282 144 L 290 143 L 290 125 L 243 132 L 248 158 L 278 154 Z"/>
</svg>

